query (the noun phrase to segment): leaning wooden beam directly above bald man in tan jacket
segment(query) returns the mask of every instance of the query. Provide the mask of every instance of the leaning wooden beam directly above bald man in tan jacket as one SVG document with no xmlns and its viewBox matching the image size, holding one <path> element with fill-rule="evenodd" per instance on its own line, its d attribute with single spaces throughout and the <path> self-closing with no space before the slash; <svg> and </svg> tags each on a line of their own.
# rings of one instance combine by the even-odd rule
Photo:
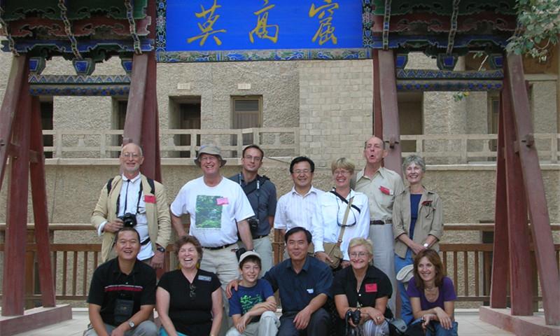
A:
<svg viewBox="0 0 560 336">
<path fill-rule="evenodd" d="M 141 144 L 147 73 L 148 54 L 135 54 L 132 57 L 132 79 L 130 83 L 130 93 L 128 94 L 123 145 L 131 142 Z"/>
</svg>

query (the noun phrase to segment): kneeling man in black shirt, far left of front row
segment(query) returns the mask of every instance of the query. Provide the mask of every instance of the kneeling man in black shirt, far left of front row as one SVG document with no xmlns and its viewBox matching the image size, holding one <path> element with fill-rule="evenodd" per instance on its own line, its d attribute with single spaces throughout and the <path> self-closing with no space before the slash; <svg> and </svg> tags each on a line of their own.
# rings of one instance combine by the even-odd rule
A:
<svg viewBox="0 0 560 336">
<path fill-rule="evenodd" d="M 85 336 L 156 336 L 150 321 L 155 306 L 155 271 L 137 261 L 140 237 L 134 228 L 117 232 L 117 258 L 95 269 L 89 303 L 90 325 Z"/>
</svg>

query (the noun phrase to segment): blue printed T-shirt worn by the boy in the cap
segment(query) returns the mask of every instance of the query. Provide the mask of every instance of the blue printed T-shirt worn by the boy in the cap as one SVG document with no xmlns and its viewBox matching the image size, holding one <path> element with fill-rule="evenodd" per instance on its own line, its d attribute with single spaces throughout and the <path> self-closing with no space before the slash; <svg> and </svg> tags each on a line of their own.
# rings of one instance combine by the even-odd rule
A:
<svg viewBox="0 0 560 336">
<path fill-rule="evenodd" d="M 272 286 L 265 279 L 258 279 L 253 287 L 239 285 L 237 290 L 232 289 L 230 297 L 230 316 L 235 314 L 245 315 L 255 304 L 265 302 L 268 297 L 274 295 Z M 254 318 L 253 318 L 254 320 Z"/>
</svg>

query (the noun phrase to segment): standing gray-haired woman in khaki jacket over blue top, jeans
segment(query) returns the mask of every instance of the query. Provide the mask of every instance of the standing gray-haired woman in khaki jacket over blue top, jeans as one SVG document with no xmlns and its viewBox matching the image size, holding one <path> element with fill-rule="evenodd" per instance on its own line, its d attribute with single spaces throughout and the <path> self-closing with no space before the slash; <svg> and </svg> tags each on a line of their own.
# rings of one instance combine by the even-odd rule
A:
<svg viewBox="0 0 560 336">
<path fill-rule="evenodd" d="M 439 250 L 437 241 L 443 235 L 443 207 L 440 196 L 426 189 L 422 179 L 426 163 L 418 155 L 409 155 L 402 162 L 402 171 L 409 186 L 393 203 L 393 237 L 395 237 L 395 272 L 412 265 L 414 256 L 427 248 Z M 401 279 L 398 277 L 398 279 Z M 398 282 L 400 318 L 409 324 L 412 308 L 404 283 Z"/>
</svg>

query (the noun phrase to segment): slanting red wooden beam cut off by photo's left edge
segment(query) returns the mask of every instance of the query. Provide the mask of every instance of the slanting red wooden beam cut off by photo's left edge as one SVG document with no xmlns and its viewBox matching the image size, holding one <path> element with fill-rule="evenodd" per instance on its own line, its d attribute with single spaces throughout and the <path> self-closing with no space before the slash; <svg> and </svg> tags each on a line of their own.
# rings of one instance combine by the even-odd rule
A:
<svg viewBox="0 0 560 336">
<path fill-rule="evenodd" d="M 27 73 L 26 69 L 27 56 L 14 56 L 0 109 L 0 190 L 2 188 L 6 160 L 8 159 L 8 145 L 12 139 L 13 119 L 15 111 L 18 109 L 20 92 L 22 90 L 22 81 L 24 78 L 27 79 L 27 76 L 25 76 L 25 73 Z"/>
</svg>

